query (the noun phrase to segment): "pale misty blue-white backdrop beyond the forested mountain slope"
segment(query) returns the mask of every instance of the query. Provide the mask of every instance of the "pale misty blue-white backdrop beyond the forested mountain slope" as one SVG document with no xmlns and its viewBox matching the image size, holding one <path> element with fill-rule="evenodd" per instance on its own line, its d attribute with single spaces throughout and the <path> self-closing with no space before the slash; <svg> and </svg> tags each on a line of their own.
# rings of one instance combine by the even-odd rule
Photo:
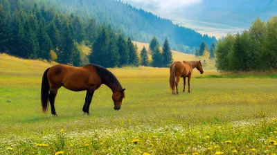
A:
<svg viewBox="0 0 277 155">
<path fill-rule="evenodd" d="M 136 8 L 172 20 L 217 38 L 251 26 L 256 17 L 264 21 L 277 15 L 277 0 L 124 0 Z M 276 8 L 275 8 L 276 6 Z"/>
</svg>

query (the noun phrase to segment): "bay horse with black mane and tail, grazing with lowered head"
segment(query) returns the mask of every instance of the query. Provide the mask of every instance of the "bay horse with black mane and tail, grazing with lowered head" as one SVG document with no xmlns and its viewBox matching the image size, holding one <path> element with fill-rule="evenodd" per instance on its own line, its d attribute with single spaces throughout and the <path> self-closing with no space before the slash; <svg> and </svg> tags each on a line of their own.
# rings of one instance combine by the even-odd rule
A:
<svg viewBox="0 0 277 155">
<path fill-rule="evenodd" d="M 123 98 L 125 98 L 125 89 L 122 89 L 113 73 L 95 64 L 88 64 L 86 66 L 74 67 L 64 64 L 57 64 L 52 66 L 44 72 L 42 78 L 42 110 L 44 112 L 48 109 L 48 101 L 51 105 L 51 113 L 57 116 L 55 111 L 55 97 L 57 89 L 64 86 L 71 91 L 87 91 L 82 111 L 84 114 L 89 114 L 89 104 L 93 97 L 94 91 L 98 89 L 101 84 L 109 86 L 113 95 L 114 109 L 119 110 Z"/>
</svg>

